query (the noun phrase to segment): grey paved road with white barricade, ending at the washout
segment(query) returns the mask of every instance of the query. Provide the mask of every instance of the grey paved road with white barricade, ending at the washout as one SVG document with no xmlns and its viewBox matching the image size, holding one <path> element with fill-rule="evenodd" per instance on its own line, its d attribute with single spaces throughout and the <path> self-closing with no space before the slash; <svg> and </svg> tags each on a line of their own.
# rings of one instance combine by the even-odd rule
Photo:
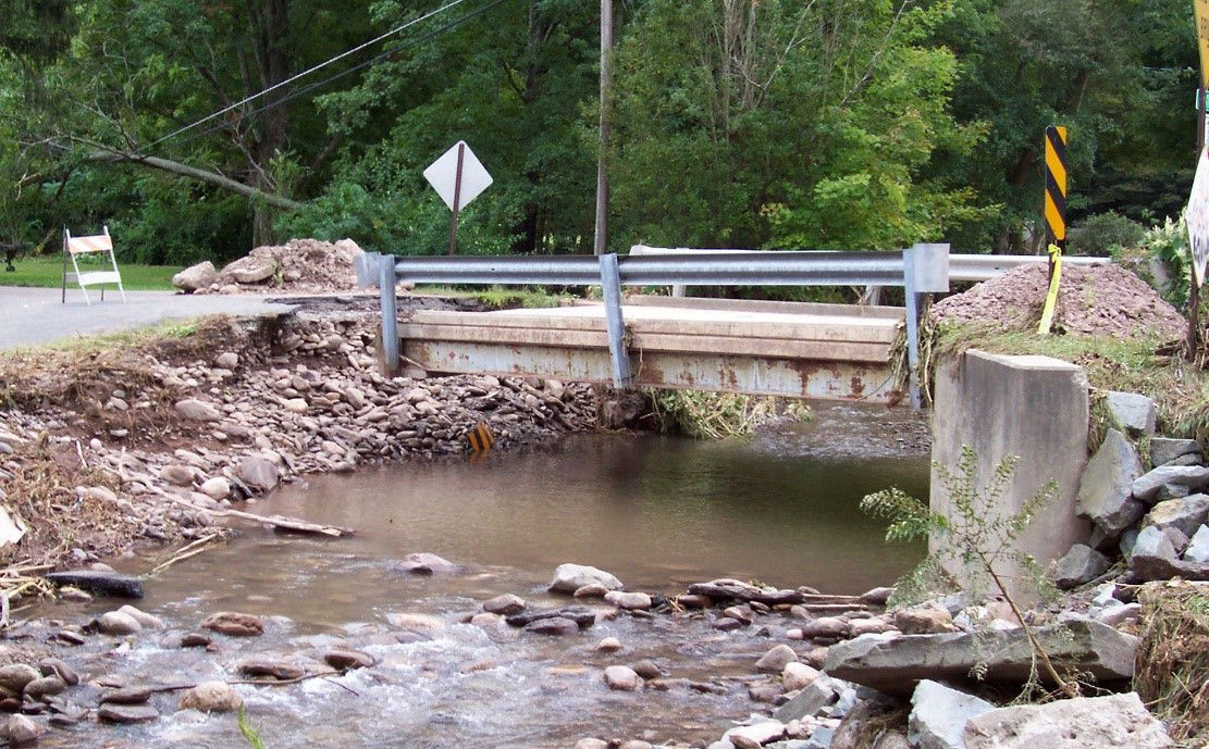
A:
<svg viewBox="0 0 1209 749">
<path fill-rule="evenodd" d="M 258 296 L 127 291 L 123 304 L 116 292 L 106 291 L 104 302 L 98 301 L 98 291 L 88 294 L 93 300 L 91 307 L 85 304 L 79 289 L 68 290 L 68 303 L 63 304 L 58 289 L 0 286 L 0 349 L 202 314 L 271 314 L 290 309 L 285 304 L 270 304 Z"/>
</svg>

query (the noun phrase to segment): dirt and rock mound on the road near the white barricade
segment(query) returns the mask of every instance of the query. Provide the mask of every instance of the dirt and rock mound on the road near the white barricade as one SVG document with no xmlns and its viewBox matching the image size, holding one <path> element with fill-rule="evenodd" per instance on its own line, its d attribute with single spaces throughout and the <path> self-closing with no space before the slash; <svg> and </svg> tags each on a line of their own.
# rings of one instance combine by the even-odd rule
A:
<svg viewBox="0 0 1209 749">
<path fill-rule="evenodd" d="M 290 239 L 280 245 L 254 249 L 216 275 L 195 285 L 196 294 L 239 294 L 273 290 L 287 294 L 320 294 L 357 289 L 355 259 L 361 248 L 352 239 L 336 243 L 318 239 Z M 196 266 L 195 266 L 196 267 Z M 186 277 L 193 268 L 185 271 Z M 203 273 L 203 275 L 206 275 Z M 173 279 L 177 283 L 177 279 Z M 185 289 L 184 283 L 177 283 Z"/>
</svg>

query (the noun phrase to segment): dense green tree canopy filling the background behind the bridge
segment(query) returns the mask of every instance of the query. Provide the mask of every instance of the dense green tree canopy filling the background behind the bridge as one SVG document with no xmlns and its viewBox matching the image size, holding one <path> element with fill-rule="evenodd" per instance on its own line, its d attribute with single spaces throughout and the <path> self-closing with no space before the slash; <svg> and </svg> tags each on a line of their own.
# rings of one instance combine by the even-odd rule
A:
<svg viewBox="0 0 1209 749">
<path fill-rule="evenodd" d="M 439 252 L 449 211 L 421 173 L 464 139 L 496 182 L 465 211 L 463 251 L 591 251 L 597 5 L 439 7 L 0 0 L 0 240 L 104 222 L 155 262 L 289 236 Z M 1191 184 L 1186 0 L 617 0 L 615 14 L 613 250 L 1032 250 L 1055 123 L 1075 226 L 1161 220 Z"/>
</svg>

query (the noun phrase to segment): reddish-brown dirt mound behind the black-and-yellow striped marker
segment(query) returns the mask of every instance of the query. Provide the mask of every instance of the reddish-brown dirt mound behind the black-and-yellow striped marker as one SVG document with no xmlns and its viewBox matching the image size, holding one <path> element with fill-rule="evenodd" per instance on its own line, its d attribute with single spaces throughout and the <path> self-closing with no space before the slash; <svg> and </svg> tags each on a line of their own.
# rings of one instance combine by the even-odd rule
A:
<svg viewBox="0 0 1209 749">
<path fill-rule="evenodd" d="M 1041 317 L 1049 272 L 1045 265 L 1016 268 L 973 289 L 941 300 L 933 321 L 1035 325 Z M 1184 318 L 1146 281 L 1115 266 L 1065 266 L 1058 289 L 1055 330 L 1083 336 L 1178 338 Z"/>
</svg>

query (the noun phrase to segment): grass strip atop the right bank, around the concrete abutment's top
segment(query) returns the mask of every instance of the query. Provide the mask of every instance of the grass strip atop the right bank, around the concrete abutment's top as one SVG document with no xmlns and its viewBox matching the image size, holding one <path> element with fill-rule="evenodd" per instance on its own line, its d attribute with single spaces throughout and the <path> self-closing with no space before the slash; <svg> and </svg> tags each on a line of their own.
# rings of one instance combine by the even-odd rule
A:
<svg viewBox="0 0 1209 749">
<path fill-rule="evenodd" d="M 1036 354 L 1082 366 L 1092 385 L 1092 443 L 1107 426 L 1103 406 L 1109 390 L 1141 393 L 1158 406 L 1158 426 L 1168 436 L 1209 439 L 1209 372 L 1179 355 L 1158 353 L 1158 339 L 1099 336 L 1039 336 L 1002 326 L 945 324 L 921 336 L 925 377 L 939 359 L 977 348 L 993 354 Z"/>
</svg>

